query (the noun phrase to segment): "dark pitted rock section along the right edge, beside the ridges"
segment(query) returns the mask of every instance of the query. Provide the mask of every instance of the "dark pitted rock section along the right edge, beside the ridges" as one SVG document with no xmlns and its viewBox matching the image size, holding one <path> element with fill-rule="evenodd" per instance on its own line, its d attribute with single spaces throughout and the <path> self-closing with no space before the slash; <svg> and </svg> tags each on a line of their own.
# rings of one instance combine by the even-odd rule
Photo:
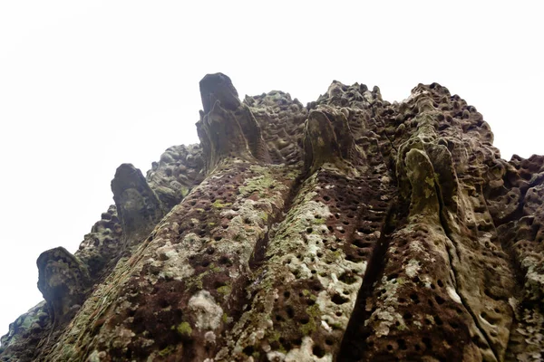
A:
<svg viewBox="0 0 544 362">
<path fill-rule="evenodd" d="M 520 295 L 512 299 L 507 356 L 539 360 L 544 350 L 544 157 L 489 163 L 488 203 L 503 249 L 517 269 Z"/>
</svg>

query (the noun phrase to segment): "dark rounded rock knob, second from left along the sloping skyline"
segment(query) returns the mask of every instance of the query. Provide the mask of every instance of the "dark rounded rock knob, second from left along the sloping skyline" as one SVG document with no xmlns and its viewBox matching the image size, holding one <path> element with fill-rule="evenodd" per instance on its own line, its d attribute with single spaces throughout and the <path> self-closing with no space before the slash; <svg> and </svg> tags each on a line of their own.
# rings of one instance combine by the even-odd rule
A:
<svg viewBox="0 0 544 362">
<path fill-rule="evenodd" d="M 141 171 L 131 164 L 117 168 L 112 180 L 115 206 L 126 246 L 139 243 L 159 223 L 164 211 Z"/>
</svg>

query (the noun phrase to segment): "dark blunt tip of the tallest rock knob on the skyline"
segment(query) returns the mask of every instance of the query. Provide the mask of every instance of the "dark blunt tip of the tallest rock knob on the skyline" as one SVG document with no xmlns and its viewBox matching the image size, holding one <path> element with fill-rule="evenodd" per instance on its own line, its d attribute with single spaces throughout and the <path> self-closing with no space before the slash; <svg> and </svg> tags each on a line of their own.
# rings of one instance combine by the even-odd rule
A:
<svg viewBox="0 0 544 362">
<path fill-rule="evenodd" d="M 232 85 L 230 78 L 223 73 L 207 74 L 202 78 L 200 97 L 205 114 L 212 110 L 217 100 L 219 100 L 221 107 L 227 110 L 236 110 L 240 105 L 238 91 Z"/>
</svg>

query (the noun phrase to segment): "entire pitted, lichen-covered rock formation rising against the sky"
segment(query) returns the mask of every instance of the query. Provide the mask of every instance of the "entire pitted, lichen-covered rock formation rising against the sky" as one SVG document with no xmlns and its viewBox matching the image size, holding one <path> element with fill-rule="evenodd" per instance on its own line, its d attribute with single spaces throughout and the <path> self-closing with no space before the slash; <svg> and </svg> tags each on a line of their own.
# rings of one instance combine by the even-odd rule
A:
<svg viewBox="0 0 544 362">
<path fill-rule="evenodd" d="M 118 168 L 0 360 L 544 359 L 544 157 L 501 159 L 436 83 L 200 93 L 200 145 Z"/>
</svg>

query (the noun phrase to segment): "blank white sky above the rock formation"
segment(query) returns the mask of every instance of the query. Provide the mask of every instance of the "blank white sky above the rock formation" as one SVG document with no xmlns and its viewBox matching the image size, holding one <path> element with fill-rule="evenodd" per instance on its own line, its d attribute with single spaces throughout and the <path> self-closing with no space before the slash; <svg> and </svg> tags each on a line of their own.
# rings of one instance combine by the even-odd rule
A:
<svg viewBox="0 0 544 362">
<path fill-rule="evenodd" d="M 437 81 L 502 157 L 544 154 L 539 3 L 0 2 L 0 335 L 42 300 L 38 255 L 75 252 L 112 204 L 116 167 L 198 141 L 209 72 L 304 104 L 333 80 L 390 101 Z"/>
</svg>

